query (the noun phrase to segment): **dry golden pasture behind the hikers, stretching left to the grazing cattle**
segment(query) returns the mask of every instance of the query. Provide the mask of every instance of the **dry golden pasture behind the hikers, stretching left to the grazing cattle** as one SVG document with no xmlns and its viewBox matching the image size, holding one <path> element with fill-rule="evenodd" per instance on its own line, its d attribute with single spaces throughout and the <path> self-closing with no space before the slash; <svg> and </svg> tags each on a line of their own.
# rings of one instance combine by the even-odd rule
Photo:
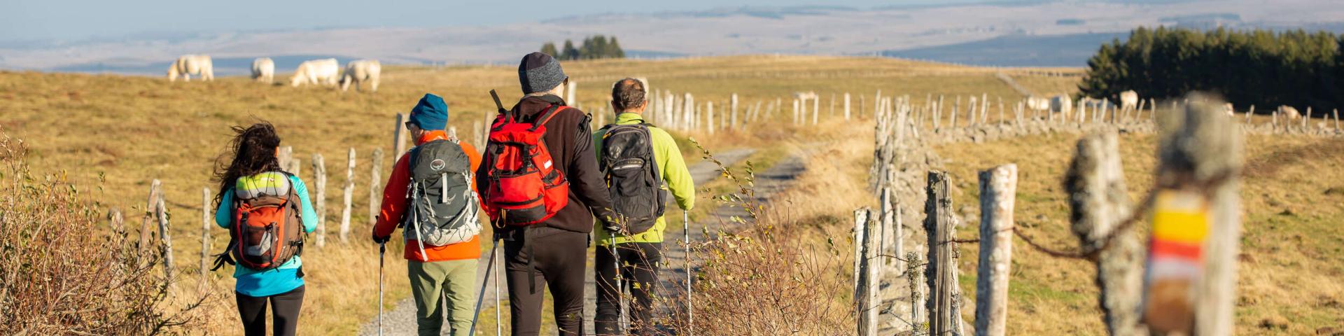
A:
<svg viewBox="0 0 1344 336">
<path fill-rule="evenodd" d="M 696 101 L 715 101 L 719 106 L 727 106 L 732 93 L 739 94 L 743 105 L 753 105 L 775 98 L 788 101 L 794 91 L 816 91 L 821 97 L 824 118 L 829 116 L 831 97 L 847 91 L 855 95 L 852 103 L 859 116 L 871 114 L 872 95 L 878 90 L 886 95 L 909 94 L 917 101 L 926 94 L 1016 97 L 1012 89 L 993 77 L 995 70 L 879 58 L 726 56 L 591 60 L 564 63 L 564 67 L 579 85 L 578 103 L 582 106 L 602 105 L 609 83 L 622 77 L 646 77 L 653 89 L 691 91 Z M 211 168 L 231 136 L 228 126 L 257 120 L 276 124 L 284 138 L 282 145 L 292 145 L 294 157 L 302 163 L 300 176 L 312 183 L 309 159 L 314 153 L 325 156 L 329 176 L 325 195 L 328 246 L 309 249 L 305 254 L 309 289 L 302 332 L 349 333 L 376 312 L 372 308 L 376 297 L 376 249 L 366 238 L 370 226 L 370 153 L 374 148 L 391 151 L 391 132 L 396 126 L 394 116 L 409 110 L 425 93 L 444 95 L 450 106 L 450 125 L 457 126 L 462 138 L 472 138 L 472 124 L 481 120 L 482 113 L 493 112 L 487 94 L 491 89 L 500 90 L 505 99 L 517 97 L 516 69 L 387 67 L 376 94 L 294 89 L 246 78 L 169 83 L 163 78 L 145 77 L 0 71 L 0 129 L 27 141 L 36 171 L 65 171 L 81 188 L 101 187 L 95 191 L 101 206 L 121 208 L 130 223 L 138 220 L 142 211 L 140 203 L 149 181 L 163 180 L 173 214 L 172 237 L 179 269 L 188 273 L 184 281 L 195 282 L 200 250 L 196 242 L 202 230 L 196 219 L 202 214 L 200 192 L 204 187 L 214 188 Z M 839 103 L 836 109 L 840 109 Z M 777 112 L 774 120 L 751 126 L 770 132 L 681 133 L 677 137 L 695 137 L 710 149 L 720 151 L 778 148 L 782 140 L 814 134 L 785 126 L 788 118 L 788 112 Z M 845 124 L 828 125 L 840 128 Z M 864 125 L 847 125 L 852 129 L 845 134 L 871 132 L 871 126 Z M 336 227 L 348 148 L 356 149 L 359 167 L 355 172 L 351 242 L 340 243 Z M 689 148 L 683 151 L 694 153 Z M 863 155 L 863 151 L 853 155 Z M 780 151 L 765 151 L 753 160 L 770 161 L 780 156 Z M 387 155 L 379 163 L 384 176 L 391 160 L 392 155 Z M 106 176 L 106 183 L 98 185 L 101 175 Z M 219 249 L 224 243 L 223 230 L 211 231 L 212 249 Z M 399 246 L 390 249 L 396 251 Z M 409 294 L 405 289 L 405 263 L 395 254 L 388 261 L 388 302 L 395 302 Z M 207 321 L 204 331 L 237 332 L 230 297 L 233 280 L 226 271 L 212 273 L 210 278 L 206 292 L 216 294 L 218 301 L 210 306 L 215 310 L 211 314 L 214 320 Z M 195 286 L 181 288 L 183 296 L 196 294 Z"/>
</svg>

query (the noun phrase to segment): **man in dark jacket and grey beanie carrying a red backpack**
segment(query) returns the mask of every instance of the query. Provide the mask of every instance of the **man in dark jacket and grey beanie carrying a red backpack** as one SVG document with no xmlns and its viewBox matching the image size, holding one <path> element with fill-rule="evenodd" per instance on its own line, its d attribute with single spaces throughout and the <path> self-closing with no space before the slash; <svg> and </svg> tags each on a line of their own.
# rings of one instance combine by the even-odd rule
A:
<svg viewBox="0 0 1344 336">
<path fill-rule="evenodd" d="M 491 126 L 477 171 L 482 204 L 504 239 L 513 335 L 538 335 L 550 288 L 560 335 L 581 335 L 589 234 L 597 220 L 618 230 L 597 167 L 586 113 L 566 106 L 569 77 L 550 55 L 517 67 L 526 94 Z M 499 99 L 496 97 L 496 103 Z"/>
</svg>

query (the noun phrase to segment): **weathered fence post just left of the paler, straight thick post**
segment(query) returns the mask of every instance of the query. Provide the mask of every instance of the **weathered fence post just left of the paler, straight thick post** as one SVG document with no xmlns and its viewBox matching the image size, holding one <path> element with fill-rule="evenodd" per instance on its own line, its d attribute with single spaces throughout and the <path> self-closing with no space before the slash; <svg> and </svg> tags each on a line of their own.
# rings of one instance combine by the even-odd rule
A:
<svg viewBox="0 0 1344 336">
<path fill-rule="evenodd" d="M 956 116 L 956 114 L 954 114 Z M 925 233 L 929 241 L 929 333 L 965 335 L 961 327 L 961 290 L 957 284 L 956 223 L 952 198 L 948 194 L 948 173 L 930 171 L 925 202 Z"/>
</svg>

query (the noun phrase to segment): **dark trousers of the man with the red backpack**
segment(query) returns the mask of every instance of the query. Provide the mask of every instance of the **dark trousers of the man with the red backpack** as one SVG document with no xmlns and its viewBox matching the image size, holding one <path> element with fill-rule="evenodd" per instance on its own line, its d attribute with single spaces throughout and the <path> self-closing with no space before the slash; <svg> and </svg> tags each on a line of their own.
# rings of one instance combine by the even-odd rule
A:
<svg viewBox="0 0 1344 336">
<path fill-rule="evenodd" d="M 527 227 L 504 233 L 505 278 L 513 335 L 542 329 L 542 297 L 550 288 L 559 335 L 583 335 L 585 233 Z"/>
</svg>

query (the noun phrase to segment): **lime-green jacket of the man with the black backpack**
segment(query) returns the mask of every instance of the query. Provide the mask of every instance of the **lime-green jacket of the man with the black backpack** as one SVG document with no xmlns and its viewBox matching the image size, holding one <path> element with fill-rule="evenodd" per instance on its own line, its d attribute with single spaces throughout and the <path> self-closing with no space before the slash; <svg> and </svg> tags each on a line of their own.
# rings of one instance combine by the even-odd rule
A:
<svg viewBox="0 0 1344 336">
<path fill-rule="evenodd" d="M 616 116 L 616 125 L 634 125 L 644 122 L 644 117 L 636 113 L 621 113 Z M 606 130 L 598 129 L 593 133 L 593 145 L 597 155 L 602 155 L 602 136 Z M 676 140 L 667 130 L 660 128 L 649 126 L 649 137 L 653 141 L 653 161 L 657 163 L 659 176 L 663 176 L 664 185 L 669 191 L 668 194 L 676 199 L 677 206 L 681 210 L 689 211 L 695 207 L 695 180 L 691 179 L 691 171 L 685 168 L 685 160 L 681 159 L 681 149 L 677 148 Z M 660 243 L 663 242 L 663 231 L 667 230 L 667 219 L 659 216 L 657 222 L 653 223 L 648 231 L 637 233 L 629 237 L 617 237 L 616 243 Z M 612 235 L 602 228 L 601 224 L 593 226 L 593 233 L 597 234 L 595 239 L 598 246 L 607 246 L 612 243 Z"/>
</svg>

